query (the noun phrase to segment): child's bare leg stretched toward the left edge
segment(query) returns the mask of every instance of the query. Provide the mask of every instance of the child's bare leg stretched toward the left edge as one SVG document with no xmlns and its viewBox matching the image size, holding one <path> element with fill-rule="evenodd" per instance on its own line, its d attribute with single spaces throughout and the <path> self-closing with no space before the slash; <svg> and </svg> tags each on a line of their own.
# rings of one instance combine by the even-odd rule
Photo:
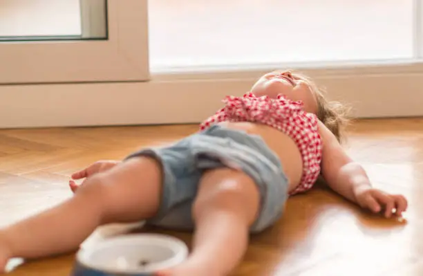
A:
<svg viewBox="0 0 423 276">
<path fill-rule="evenodd" d="M 156 160 L 146 157 L 88 178 L 73 198 L 0 230 L 0 271 L 11 257 L 76 250 L 102 224 L 152 217 L 160 203 L 161 178 Z"/>
</svg>

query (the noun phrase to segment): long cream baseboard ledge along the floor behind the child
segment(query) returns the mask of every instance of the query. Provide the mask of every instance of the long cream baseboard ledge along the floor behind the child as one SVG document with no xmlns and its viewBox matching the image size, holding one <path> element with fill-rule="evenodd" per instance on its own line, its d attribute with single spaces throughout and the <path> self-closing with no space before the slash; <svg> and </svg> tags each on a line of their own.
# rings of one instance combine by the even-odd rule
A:
<svg viewBox="0 0 423 276">
<path fill-rule="evenodd" d="M 254 77 L 0 86 L 0 128 L 200 122 Z M 423 116 L 423 74 L 319 75 L 356 118 Z"/>
</svg>

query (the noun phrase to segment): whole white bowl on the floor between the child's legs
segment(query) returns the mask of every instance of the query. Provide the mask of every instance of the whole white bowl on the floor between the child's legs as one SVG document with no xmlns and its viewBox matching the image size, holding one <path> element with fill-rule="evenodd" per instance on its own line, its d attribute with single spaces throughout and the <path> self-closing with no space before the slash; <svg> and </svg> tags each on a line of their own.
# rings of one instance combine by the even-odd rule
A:
<svg viewBox="0 0 423 276">
<path fill-rule="evenodd" d="M 93 271 L 102 275 L 149 275 L 176 266 L 187 256 L 188 248 L 179 239 L 160 234 L 128 234 L 79 250 L 73 275 L 93 275 Z"/>
</svg>

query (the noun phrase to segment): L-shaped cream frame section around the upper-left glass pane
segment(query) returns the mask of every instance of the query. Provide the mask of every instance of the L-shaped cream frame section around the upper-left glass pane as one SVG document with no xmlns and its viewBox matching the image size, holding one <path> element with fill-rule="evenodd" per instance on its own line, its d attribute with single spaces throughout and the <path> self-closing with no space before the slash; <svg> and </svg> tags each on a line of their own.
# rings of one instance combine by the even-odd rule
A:
<svg viewBox="0 0 423 276">
<path fill-rule="evenodd" d="M 0 84 L 149 80 L 147 21 L 147 0 L 107 0 L 106 39 L 1 42 Z"/>
</svg>

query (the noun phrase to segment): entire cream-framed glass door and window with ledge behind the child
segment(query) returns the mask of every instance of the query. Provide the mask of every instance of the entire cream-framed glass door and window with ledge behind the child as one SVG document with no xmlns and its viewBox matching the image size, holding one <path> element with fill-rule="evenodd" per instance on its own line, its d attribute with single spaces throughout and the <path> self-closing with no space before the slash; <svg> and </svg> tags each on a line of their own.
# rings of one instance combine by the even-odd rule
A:
<svg viewBox="0 0 423 276">
<path fill-rule="evenodd" d="M 422 0 L 3 0 L 0 127 L 198 122 L 274 68 L 422 116 Z"/>
</svg>

